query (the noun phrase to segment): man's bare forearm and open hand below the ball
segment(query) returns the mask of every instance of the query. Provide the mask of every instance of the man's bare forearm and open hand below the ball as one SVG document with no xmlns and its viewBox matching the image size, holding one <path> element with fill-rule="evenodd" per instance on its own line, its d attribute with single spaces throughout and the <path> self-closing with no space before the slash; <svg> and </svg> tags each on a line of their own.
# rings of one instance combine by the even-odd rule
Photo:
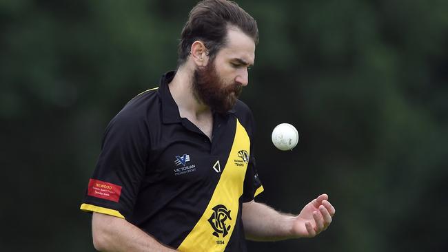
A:
<svg viewBox="0 0 448 252">
<path fill-rule="evenodd" d="M 335 212 L 327 194 L 309 202 L 298 216 L 280 213 L 252 200 L 243 203 L 242 220 L 249 240 L 311 238 L 327 229 Z"/>
</svg>

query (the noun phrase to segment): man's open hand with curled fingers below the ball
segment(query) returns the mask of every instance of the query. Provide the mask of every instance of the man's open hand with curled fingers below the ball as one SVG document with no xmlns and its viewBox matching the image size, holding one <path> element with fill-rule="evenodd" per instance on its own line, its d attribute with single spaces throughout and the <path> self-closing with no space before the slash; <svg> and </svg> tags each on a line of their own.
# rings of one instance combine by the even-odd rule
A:
<svg viewBox="0 0 448 252">
<path fill-rule="evenodd" d="M 296 238 L 312 238 L 327 229 L 336 210 L 322 194 L 309 202 L 294 218 L 292 235 Z"/>
</svg>

